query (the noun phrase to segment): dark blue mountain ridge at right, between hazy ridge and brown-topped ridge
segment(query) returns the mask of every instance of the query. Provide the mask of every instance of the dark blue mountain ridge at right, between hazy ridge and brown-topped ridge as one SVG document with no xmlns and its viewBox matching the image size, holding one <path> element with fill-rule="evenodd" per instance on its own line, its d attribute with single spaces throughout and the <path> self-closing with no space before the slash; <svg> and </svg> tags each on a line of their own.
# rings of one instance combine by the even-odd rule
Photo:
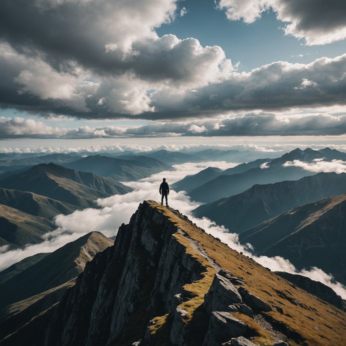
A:
<svg viewBox="0 0 346 346">
<path fill-rule="evenodd" d="M 294 207 L 341 193 L 346 193 L 346 173 L 321 172 L 298 181 L 254 185 L 241 194 L 202 205 L 193 214 L 241 233 Z"/>
</svg>

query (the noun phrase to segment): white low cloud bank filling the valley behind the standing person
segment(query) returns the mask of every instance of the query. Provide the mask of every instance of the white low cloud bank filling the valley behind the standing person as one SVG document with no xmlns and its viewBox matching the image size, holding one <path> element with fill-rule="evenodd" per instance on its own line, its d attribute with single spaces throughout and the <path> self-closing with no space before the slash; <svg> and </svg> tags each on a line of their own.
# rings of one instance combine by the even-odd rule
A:
<svg viewBox="0 0 346 346">
<path fill-rule="evenodd" d="M 175 165 L 175 171 L 164 171 L 137 182 L 124 183 L 130 186 L 133 191 L 126 195 L 114 195 L 98 200 L 99 206 L 102 207 L 101 209 L 89 208 L 83 211 L 76 211 L 67 216 L 57 216 L 55 221 L 58 228 L 44 235 L 43 238 L 45 241 L 43 243 L 30 245 L 24 250 L 0 253 L 0 270 L 36 253 L 52 252 L 66 243 L 92 231 L 102 232 L 108 237 L 115 236 L 119 226 L 122 223 L 129 222 L 130 217 L 137 210 L 139 203 L 144 200 L 160 201 L 158 188 L 162 182 L 162 178 L 166 178 L 168 184 L 172 184 L 187 175 L 194 175 L 208 166 L 218 166 L 226 169 L 235 165 L 235 163 L 229 162 L 185 163 Z M 252 257 L 255 261 L 270 268 L 272 271 L 286 271 L 292 274 L 307 276 L 331 287 L 338 295 L 346 299 L 346 287 L 338 282 L 335 283 L 333 277 L 324 273 L 322 270 L 314 267 L 299 272 L 288 260 L 282 257 L 255 257 L 251 253 L 251 245 L 241 245 L 238 241 L 237 234 L 228 233 L 228 230 L 224 226 L 218 226 L 215 222 L 207 218 L 197 219 L 193 217 L 191 212 L 200 204 L 191 201 L 184 192 L 177 193 L 171 191 L 168 196 L 168 204 L 170 207 L 178 209 L 182 214 L 189 216 L 194 223 L 206 230 L 207 233 L 219 238 L 231 248 Z"/>
</svg>

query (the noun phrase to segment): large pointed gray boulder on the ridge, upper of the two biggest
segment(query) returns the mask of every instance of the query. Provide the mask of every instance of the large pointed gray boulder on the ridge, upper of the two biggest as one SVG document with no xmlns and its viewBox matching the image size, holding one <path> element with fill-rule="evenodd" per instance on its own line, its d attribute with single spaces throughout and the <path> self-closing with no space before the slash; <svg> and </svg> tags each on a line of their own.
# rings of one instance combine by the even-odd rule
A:
<svg viewBox="0 0 346 346">
<path fill-rule="evenodd" d="M 220 274 L 215 274 L 208 293 L 204 296 L 204 307 L 208 314 L 212 311 L 227 311 L 228 306 L 242 303 L 242 297 L 234 285 Z"/>
</svg>

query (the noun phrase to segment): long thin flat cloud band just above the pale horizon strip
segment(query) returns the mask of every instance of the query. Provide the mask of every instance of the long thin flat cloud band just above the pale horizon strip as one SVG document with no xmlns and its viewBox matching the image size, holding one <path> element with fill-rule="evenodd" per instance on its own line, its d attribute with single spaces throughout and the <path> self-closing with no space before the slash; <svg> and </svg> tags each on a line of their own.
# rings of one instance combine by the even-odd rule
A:
<svg viewBox="0 0 346 346">
<path fill-rule="evenodd" d="M 156 122 L 142 126 L 78 128 L 51 127 L 42 121 L 0 116 L 0 139 L 16 138 L 131 138 L 167 136 L 268 136 L 341 135 L 346 133 L 346 115 L 306 114 L 280 116 L 246 113 L 229 118 L 187 122 Z"/>
</svg>

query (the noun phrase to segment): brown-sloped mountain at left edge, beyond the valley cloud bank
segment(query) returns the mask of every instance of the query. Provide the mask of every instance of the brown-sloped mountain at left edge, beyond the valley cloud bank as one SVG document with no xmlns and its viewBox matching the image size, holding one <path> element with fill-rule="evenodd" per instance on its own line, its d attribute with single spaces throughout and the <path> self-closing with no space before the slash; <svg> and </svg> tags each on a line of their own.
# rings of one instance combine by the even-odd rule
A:
<svg viewBox="0 0 346 346">
<path fill-rule="evenodd" d="M 58 214 L 97 207 L 95 200 L 132 189 L 89 172 L 42 163 L 0 180 L 0 246 L 11 248 L 43 241 L 56 229 Z"/>
</svg>

